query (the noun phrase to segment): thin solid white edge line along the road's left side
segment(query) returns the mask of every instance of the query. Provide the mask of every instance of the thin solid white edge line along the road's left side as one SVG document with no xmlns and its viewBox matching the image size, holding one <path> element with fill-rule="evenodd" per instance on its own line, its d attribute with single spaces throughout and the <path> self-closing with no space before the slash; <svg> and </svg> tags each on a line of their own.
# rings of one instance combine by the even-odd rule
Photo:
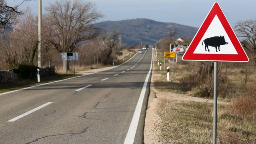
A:
<svg viewBox="0 0 256 144">
<path fill-rule="evenodd" d="M 136 54 L 134 54 L 134 56 L 136 56 L 138 54 L 138 52 Z M 132 56 L 129 60 L 131 60 L 132 58 L 134 58 L 134 56 Z M 128 62 L 129 60 L 127 60 L 126 62 Z M 118 66 L 114 67 L 114 68 L 117 68 L 119 66 L 122 66 L 123 64 L 125 64 L 126 62 L 122 63 L 122 64 L 119 64 Z M 114 68 L 110 68 L 110 69 L 107 69 L 107 70 L 112 70 Z M 100 72 L 104 72 L 104 71 L 107 71 L 107 70 L 102 70 Z M 98 72 L 94 72 L 94 73 L 91 73 L 91 74 L 96 74 Z M 91 75 L 91 74 L 86 74 L 86 75 L 82 75 L 82 76 L 88 76 L 88 75 Z M 66 79 L 63 79 L 63 80 L 57 80 L 57 81 L 54 81 L 54 82 L 48 82 L 48 83 L 45 83 L 45 84 L 38 84 L 36 86 L 43 86 L 43 85 L 46 85 L 46 84 L 52 84 L 52 83 L 55 83 L 55 82 L 61 82 L 61 81 L 64 81 L 64 80 L 70 80 L 70 79 L 73 79 L 73 78 L 79 78 L 79 77 L 82 77 L 82 76 L 76 76 L 76 77 L 72 77 L 72 78 L 66 78 Z M 27 88 L 22 88 L 22 89 L 19 89 L 19 90 L 13 90 L 13 91 L 10 91 L 10 92 L 4 92 L 0 95 L 4 95 L 4 94 L 9 94 L 9 93 L 12 93 L 12 92 L 17 92 L 17 91 L 20 91 L 20 90 L 26 90 L 26 89 L 29 89 L 29 88 L 34 88 L 36 86 L 30 86 L 30 87 L 27 87 Z"/>
</svg>

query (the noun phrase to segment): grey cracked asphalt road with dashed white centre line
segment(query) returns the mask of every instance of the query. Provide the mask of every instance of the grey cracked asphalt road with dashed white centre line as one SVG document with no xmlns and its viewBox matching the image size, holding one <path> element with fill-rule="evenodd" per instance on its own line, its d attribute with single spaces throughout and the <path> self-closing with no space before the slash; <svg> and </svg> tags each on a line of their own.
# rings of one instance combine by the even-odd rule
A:
<svg viewBox="0 0 256 144">
<path fill-rule="evenodd" d="M 111 70 L 0 95 L 0 144 L 142 144 L 151 63 L 146 50 Z"/>
</svg>

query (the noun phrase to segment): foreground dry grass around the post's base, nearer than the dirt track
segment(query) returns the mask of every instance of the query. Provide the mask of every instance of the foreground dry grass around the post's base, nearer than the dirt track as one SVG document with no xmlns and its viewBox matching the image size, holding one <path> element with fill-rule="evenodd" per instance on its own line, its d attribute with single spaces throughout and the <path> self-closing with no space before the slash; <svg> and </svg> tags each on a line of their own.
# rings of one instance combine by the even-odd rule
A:
<svg viewBox="0 0 256 144">
<path fill-rule="evenodd" d="M 218 105 L 218 143 L 256 143 L 256 122 L 244 121 Z M 212 143 L 213 105 L 202 102 L 175 102 L 163 99 L 158 104 L 160 134 L 164 144 Z"/>
</svg>

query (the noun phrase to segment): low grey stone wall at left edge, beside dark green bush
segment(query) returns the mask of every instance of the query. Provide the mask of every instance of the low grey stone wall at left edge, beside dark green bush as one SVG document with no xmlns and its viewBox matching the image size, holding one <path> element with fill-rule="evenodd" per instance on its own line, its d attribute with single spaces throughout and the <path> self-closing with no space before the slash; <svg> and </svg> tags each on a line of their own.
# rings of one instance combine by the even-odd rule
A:
<svg viewBox="0 0 256 144">
<path fill-rule="evenodd" d="M 13 82 L 18 79 L 18 75 L 13 70 L 0 70 L 0 83 Z"/>
</svg>

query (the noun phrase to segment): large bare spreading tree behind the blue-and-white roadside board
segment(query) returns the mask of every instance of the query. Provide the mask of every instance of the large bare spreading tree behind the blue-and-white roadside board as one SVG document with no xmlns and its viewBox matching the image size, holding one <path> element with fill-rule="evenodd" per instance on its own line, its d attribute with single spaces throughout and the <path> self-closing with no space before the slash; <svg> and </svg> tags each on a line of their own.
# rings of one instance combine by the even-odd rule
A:
<svg viewBox="0 0 256 144">
<path fill-rule="evenodd" d="M 46 8 L 46 19 L 50 21 L 48 40 L 58 52 L 72 52 L 77 44 L 98 36 L 98 28 L 93 26 L 102 17 L 92 2 L 81 0 L 56 1 Z M 63 68 L 68 62 L 63 63 Z"/>
</svg>

